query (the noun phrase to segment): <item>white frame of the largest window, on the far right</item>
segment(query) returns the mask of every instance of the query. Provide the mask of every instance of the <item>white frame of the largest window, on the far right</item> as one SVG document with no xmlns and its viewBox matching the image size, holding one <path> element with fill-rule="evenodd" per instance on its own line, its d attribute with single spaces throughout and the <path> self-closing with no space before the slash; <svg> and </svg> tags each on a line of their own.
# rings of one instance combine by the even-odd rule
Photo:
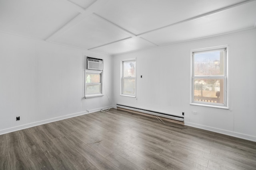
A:
<svg viewBox="0 0 256 170">
<path fill-rule="evenodd" d="M 207 53 L 214 51 L 222 51 L 224 50 L 224 74 L 223 75 L 194 75 L 194 54 L 198 53 Z M 222 45 L 217 47 L 209 47 L 204 49 L 195 49 L 191 50 L 191 74 L 190 74 L 190 105 L 195 106 L 205 106 L 205 107 L 214 107 L 220 109 L 229 109 L 228 106 L 228 45 Z M 224 104 L 219 103 L 211 103 L 211 102 L 202 102 L 194 100 L 194 80 L 195 79 L 223 79 L 223 100 Z"/>
</svg>

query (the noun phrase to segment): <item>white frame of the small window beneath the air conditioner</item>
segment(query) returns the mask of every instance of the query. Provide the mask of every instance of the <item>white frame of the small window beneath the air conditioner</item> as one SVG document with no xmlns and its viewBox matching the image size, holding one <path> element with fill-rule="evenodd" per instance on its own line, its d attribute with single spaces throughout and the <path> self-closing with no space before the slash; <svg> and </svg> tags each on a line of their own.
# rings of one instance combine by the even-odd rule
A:
<svg viewBox="0 0 256 170">
<path fill-rule="evenodd" d="M 87 83 L 86 82 L 86 74 L 100 74 L 100 83 Z M 102 86 L 103 86 L 103 82 L 102 82 L 102 76 L 103 76 L 103 71 L 102 70 L 85 70 L 84 73 L 84 97 L 85 98 L 96 98 L 96 97 L 102 97 L 104 96 L 103 92 L 102 92 Z M 94 94 L 87 94 L 86 93 L 86 87 L 89 84 L 100 84 L 100 93 L 94 93 Z"/>
</svg>

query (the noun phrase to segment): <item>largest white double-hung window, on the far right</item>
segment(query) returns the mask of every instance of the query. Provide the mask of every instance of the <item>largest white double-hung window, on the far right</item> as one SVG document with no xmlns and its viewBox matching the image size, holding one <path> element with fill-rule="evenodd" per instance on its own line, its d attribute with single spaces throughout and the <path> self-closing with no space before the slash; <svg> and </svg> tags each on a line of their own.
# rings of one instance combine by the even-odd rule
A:
<svg viewBox="0 0 256 170">
<path fill-rule="evenodd" d="M 228 109 L 227 47 L 192 50 L 191 104 Z"/>
</svg>

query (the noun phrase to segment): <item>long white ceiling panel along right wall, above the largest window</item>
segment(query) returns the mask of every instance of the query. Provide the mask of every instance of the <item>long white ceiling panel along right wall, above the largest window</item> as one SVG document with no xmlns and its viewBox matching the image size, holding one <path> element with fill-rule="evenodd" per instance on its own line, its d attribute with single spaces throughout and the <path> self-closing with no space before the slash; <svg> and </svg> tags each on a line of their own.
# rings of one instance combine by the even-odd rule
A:
<svg viewBox="0 0 256 170">
<path fill-rule="evenodd" d="M 253 28 L 256 1 L 141 35 L 158 45 Z"/>
</svg>

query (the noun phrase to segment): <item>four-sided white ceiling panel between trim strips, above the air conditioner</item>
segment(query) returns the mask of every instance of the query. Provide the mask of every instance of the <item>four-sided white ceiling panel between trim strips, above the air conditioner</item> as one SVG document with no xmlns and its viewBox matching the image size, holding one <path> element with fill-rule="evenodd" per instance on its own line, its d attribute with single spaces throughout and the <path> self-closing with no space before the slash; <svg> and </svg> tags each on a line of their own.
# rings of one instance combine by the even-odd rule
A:
<svg viewBox="0 0 256 170">
<path fill-rule="evenodd" d="M 91 49 L 128 37 L 127 33 L 92 14 L 68 29 L 54 42 Z"/>
</svg>

